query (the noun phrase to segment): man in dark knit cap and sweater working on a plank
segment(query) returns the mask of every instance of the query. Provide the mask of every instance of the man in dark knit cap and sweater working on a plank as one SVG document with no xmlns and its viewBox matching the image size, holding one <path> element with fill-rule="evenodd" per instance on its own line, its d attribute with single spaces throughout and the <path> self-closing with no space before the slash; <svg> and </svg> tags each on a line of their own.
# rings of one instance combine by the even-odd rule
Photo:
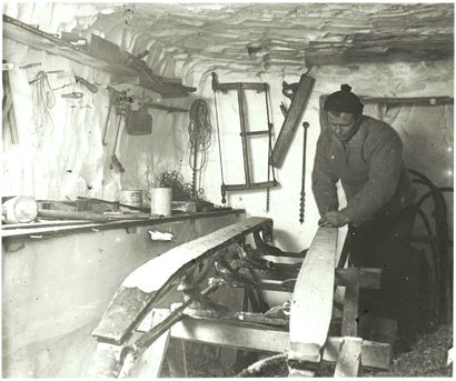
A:
<svg viewBox="0 0 456 381">
<path fill-rule="evenodd" d="M 343 84 L 325 101 L 329 128 L 321 131 L 317 142 L 313 191 L 321 215 L 319 225 L 348 224 L 351 263 L 381 269 L 380 290 L 360 294 L 360 335 L 391 341 L 381 334 L 393 334 L 394 329 L 380 329 L 376 337 L 363 322 L 383 320 L 385 328 L 385 322 L 395 327 L 398 321 L 399 334 L 413 333 L 410 320 L 416 319 L 416 311 L 408 302 L 412 295 L 406 282 L 410 278 L 407 274 L 407 280 L 404 270 L 410 257 L 416 191 L 404 164 L 398 133 L 389 124 L 364 116 L 363 103 L 350 91 Z M 340 210 L 338 180 L 347 199 Z"/>
</svg>

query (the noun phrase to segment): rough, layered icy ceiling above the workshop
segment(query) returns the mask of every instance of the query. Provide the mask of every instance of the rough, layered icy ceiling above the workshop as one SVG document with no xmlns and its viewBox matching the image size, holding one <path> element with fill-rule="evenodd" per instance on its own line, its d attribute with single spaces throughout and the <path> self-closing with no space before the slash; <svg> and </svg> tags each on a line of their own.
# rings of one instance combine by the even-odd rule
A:
<svg viewBox="0 0 456 381">
<path fill-rule="evenodd" d="M 176 60 L 248 68 L 453 57 L 452 3 L 98 4 L 92 28 L 129 28 Z M 109 14 L 107 14 L 109 13 Z M 143 43 L 141 43 L 143 46 Z"/>
</svg>

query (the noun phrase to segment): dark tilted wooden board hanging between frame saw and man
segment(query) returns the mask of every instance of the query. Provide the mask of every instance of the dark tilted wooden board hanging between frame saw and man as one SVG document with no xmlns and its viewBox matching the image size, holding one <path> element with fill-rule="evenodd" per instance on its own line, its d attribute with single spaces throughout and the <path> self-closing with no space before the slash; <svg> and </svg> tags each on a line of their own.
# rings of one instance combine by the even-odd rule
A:
<svg viewBox="0 0 456 381">
<path fill-rule="evenodd" d="M 311 77 L 308 77 L 306 74 L 303 74 L 300 77 L 298 89 L 293 97 L 290 108 L 288 110 L 287 117 L 285 118 L 284 124 L 281 126 L 279 136 L 272 150 L 271 164 L 274 167 L 280 168 L 284 163 L 285 156 L 287 154 L 288 148 L 291 144 L 296 129 L 299 124 L 299 120 L 303 117 L 304 111 L 306 110 L 307 102 L 314 88 L 314 82 L 315 79 Z"/>
</svg>

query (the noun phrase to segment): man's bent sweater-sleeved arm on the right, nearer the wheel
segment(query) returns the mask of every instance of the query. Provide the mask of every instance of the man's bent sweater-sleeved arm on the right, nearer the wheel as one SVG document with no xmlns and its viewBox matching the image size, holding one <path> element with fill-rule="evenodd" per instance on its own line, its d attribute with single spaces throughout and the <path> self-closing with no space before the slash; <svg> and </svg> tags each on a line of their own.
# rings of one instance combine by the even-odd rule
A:
<svg viewBox="0 0 456 381">
<path fill-rule="evenodd" d="M 340 212 L 359 227 L 394 195 L 403 168 L 403 143 L 397 133 L 380 139 L 371 149 L 369 180 Z"/>
</svg>

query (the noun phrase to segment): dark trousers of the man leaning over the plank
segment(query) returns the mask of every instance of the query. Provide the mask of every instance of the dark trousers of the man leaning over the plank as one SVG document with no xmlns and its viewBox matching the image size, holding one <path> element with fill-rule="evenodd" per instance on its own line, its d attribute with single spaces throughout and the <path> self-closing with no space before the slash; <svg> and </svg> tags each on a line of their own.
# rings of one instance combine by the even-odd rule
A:
<svg viewBox="0 0 456 381">
<path fill-rule="evenodd" d="M 415 211 L 410 205 L 348 230 L 351 264 L 381 269 L 380 290 L 360 291 L 359 317 L 396 320 L 399 334 L 414 330 L 413 319 L 418 313 L 419 279 L 410 247 Z"/>
</svg>

